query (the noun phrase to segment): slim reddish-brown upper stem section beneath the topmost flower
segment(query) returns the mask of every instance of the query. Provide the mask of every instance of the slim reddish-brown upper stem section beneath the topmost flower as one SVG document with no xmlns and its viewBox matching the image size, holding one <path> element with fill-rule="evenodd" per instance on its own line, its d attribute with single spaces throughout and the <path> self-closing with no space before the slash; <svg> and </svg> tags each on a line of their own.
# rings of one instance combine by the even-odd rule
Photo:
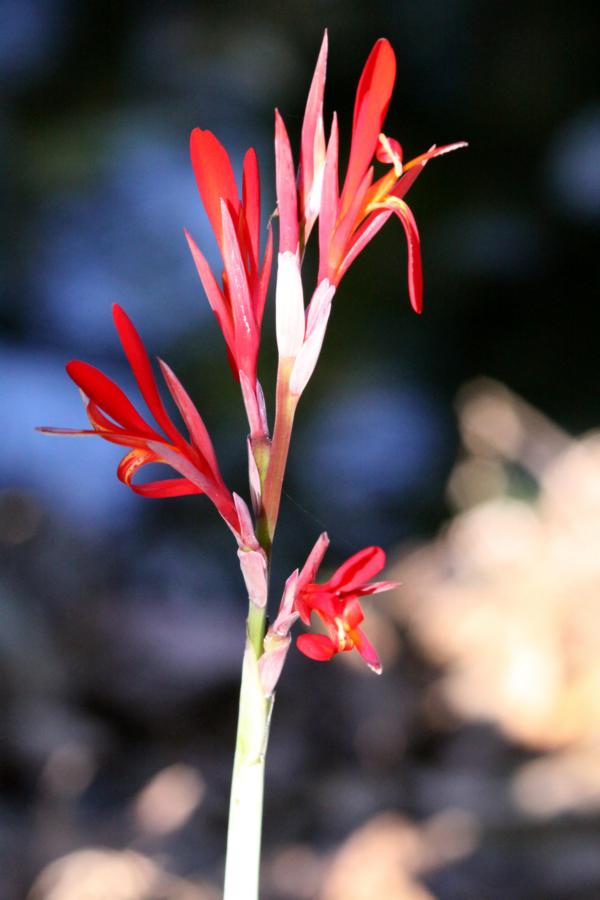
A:
<svg viewBox="0 0 600 900">
<path fill-rule="evenodd" d="M 298 398 L 293 397 L 289 389 L 293 364 L 293 359 L 282 359 L 277 372 L 275 427 L 263 496 L 264 517 L 270 541 L 273 540 L 277 525 L 283 476 L 290 449 L 294 414 L 298 405 Z"/>
</svg>

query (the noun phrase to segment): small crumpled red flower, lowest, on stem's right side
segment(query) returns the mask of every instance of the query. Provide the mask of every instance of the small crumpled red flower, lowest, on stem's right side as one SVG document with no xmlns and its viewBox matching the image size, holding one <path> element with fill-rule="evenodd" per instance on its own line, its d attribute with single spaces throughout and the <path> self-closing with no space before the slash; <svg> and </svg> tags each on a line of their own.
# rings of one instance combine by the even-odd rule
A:
<svg viewBox="0 0 600 900">
<path fill-rule="evenodd" d="M 305 625 L 310 625 L 311 615 L 315 612 L 325 625 L 327 635 L 302 634 L 296 641 L 297 647 L 305 656 L 319 661 L 356 649 L 369 668 L 380 674 L 381 663 L 375 648 L 358 627 L 364 619 L 358 598 L 397 586 L 395 581 L 369 583 L 369 579 L 385 566 L 385 553 L 381 547 L 365 547 L 347 559 L 329 581 L 316 584 L 312 578 L 327 549 L 323 537 L 326 536 L 321 537 L 321 546 L 315 548 L 319 551 L 316 559 L 313 559 L 313 551 L 300 574 L 295 606 Z"/>
</svg>

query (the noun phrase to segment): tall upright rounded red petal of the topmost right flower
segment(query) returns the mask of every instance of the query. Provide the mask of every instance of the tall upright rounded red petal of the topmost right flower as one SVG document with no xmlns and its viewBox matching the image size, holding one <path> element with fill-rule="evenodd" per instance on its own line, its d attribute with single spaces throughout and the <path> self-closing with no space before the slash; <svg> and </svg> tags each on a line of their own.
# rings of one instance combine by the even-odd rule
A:
<svg viewBox="0 0 600 900">
<path fill-rule="evenodd" d="M 369 166 L 379 140 L 396 79 L 396 57 L 389 41 L 377 41 L 363 69 L 356 91 L 352 144 L 342 191 L 342 214 Z"/>
</svg>

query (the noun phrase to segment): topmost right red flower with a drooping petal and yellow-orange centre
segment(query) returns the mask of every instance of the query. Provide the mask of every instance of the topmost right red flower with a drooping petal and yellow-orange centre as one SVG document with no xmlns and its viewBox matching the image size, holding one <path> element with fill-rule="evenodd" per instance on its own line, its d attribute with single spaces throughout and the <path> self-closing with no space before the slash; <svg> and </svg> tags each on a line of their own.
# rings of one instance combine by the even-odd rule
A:
<svg viewBox="0 0 600 900">
<path fill-rule="evenodd" d="M 397 141 L 382 134 L 383 122 L 396 77 L 396 58 L 389 42 L 377 41 L 363 69 L 354 104 L 352 142 L 346 178 L 338 191 L 338 129 L 334 116 L 323 175 L 319 214 L 319 281 L 338 285 L 350 264 L 395 213 L 408 243 L 410 301 L 421 312 L 423 276 L 419 232 L 403 200 L 428 160 L 464 147 L 464 142 L 435 145 L 408 163 Z M 391 165 L 374 181 L 373 157 Z"/>
</svg>

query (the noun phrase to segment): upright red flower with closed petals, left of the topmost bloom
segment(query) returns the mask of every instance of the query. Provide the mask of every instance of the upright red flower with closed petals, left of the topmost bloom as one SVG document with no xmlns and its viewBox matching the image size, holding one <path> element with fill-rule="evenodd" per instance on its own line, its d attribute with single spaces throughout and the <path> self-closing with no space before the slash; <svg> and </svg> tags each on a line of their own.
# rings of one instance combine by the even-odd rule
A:
<svg viewBox="0 0 600 900">
<path fill-rule="evenodd" d="M 217 283 L 206 259 L 186 232 L 208 302 L 221 326 L 229 361 L 256 391 L 260 330 L 271 273 L 272 235 L 260 264 L 260 178 L 256 153 L 245 157 L 240 200 L 231 161 L 210 131 L 195 128 L 190 138 L 192 166 L 202 203 L 215 233 L 224 271 Z"/>
</svg>

